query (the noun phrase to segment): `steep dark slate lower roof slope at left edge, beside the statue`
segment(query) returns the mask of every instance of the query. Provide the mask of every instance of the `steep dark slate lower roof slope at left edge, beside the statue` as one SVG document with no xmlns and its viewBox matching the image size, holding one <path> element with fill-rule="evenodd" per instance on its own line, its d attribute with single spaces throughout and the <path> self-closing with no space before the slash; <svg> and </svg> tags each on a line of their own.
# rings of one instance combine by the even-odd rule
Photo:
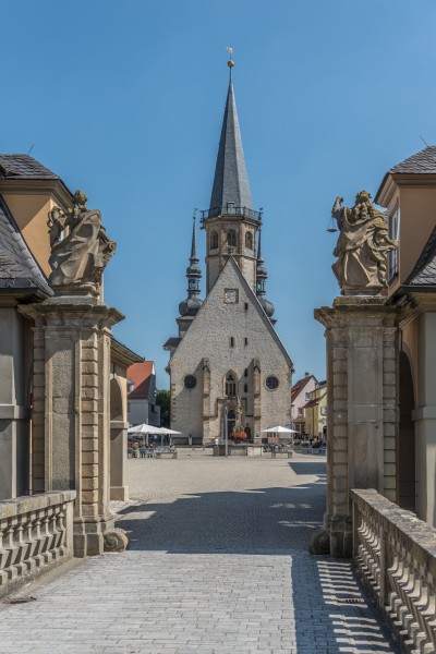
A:
<svg viewBox="0 0 436 654">
<path fill-rule="evenodd" d="M 4 290 L 11 294 L 14 291 L 53 294 L 0 196 L 0 291 Z"/>
</svg>

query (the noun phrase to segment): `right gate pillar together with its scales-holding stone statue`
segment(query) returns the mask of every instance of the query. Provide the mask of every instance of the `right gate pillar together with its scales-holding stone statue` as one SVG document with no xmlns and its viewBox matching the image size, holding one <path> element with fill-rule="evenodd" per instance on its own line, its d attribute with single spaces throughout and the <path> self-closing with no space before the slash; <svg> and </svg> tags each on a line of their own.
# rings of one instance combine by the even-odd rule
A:
<svg viewBox="0 0 436 654">
<path fill-rule="evenodd" d="M 396 436 L 398 431 L 401 310 L 387 305 L 386 262 L 396 241 L 388 235 L 384 214 L 366 191 L 353 207 L 332 208 L 339 238 L 332 270 L 341 298 L 331 307 L 315 310 L 327 342 L 327 512 L 313 553 L 335 557 L 352 553 L 352 488 L 375 488 L 397 498 Z"/>
</svg>

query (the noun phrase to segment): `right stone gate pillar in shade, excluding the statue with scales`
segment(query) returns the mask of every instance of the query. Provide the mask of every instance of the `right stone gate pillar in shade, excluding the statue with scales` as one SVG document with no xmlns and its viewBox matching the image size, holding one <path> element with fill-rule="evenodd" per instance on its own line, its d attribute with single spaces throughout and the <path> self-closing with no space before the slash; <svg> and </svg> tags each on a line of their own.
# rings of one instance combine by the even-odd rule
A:
<svg viewBox="0 0 436 654">
<path fill-rule="evenodd" d="M 318 546 L 335 557 L 352 554 L 352 488 L 397 500 L 399 311 L 382 296 L 336 298 L 315 310 L 327 344 L 327 512 Z"/>
</svg>

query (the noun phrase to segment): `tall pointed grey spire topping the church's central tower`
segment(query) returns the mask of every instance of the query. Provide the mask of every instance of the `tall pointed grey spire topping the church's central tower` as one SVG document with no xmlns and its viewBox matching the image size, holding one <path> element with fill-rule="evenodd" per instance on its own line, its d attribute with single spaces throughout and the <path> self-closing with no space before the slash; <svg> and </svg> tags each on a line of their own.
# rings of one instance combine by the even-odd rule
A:
<svg viewBox="0 0 436 654">
<path fill-rule="evenodd" d="M 231 55 L 231 48 L 229 48 L 229 52 Z M 228 64 L 230 68 L 229 90 L 227 93 L 214 186 L 210 196 L 210 209 L 219 209 L 220 213 L 222 209 L 226 213 L 229 205 L 234 207 L 252 207 L 231 76 L 233 61 L 230 59 Z"/>
</svg>

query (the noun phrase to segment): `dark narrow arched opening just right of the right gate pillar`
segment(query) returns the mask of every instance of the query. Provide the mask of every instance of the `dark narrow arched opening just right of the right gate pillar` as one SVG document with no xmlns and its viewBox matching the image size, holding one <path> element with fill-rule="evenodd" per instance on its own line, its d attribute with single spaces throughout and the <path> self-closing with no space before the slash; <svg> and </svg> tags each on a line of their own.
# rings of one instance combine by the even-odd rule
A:
<svg viewBox="0 0 436 654">
<path fill-rule="evenodd" d="M 400 352 L 400 426 L 398 447 L 399 501 L 403 509 L 415 511 L 415 429 L 412 420 L 414 409 L 413 378 L 405 352 Z"/>
</svg>

